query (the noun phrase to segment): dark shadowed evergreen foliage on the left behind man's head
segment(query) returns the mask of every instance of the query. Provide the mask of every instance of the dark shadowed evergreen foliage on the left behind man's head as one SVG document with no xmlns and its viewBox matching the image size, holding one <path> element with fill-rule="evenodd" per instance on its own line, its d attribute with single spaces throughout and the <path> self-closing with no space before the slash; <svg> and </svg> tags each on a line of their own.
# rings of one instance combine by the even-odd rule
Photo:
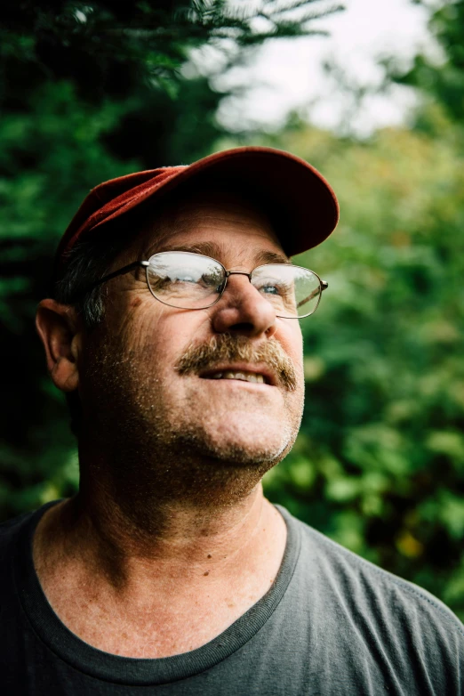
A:
<svg viewBox="0 0 464 696">
<path fill-rule="evenodd" d="M 317 3 L 1 5 L 1 518 L 76 490 L 68 409 L 46 376 L 34 315 L 77 207 L 101 181 L 212 149 L 223 95 L 184 69 L 192 49 L 214 50 L 219 73 L 268 38 L 310 34 L 300 13 L 310 5 L 324 16 Z"/>
</svg>

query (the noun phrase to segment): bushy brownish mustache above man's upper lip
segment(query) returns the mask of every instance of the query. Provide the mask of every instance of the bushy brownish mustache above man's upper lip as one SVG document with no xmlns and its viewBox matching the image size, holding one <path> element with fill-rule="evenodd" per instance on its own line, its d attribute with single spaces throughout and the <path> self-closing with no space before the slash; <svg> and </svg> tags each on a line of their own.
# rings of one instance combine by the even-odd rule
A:
<svg viewBox="0 0 464 696">
<path fill-rule="evenodd" d="M 220 334 L 207 343 L 193 342 L 180 356 L 175 368 L 180 375 L 195 374 L 213 369 L 224 362 L 264 363 L 276 377 L 277 385 L 289 392 L 298 386 L 298 378 L 292 360 L 275 338 L 264 344 L 253 345 L 246 336 Z"/>
</svg>

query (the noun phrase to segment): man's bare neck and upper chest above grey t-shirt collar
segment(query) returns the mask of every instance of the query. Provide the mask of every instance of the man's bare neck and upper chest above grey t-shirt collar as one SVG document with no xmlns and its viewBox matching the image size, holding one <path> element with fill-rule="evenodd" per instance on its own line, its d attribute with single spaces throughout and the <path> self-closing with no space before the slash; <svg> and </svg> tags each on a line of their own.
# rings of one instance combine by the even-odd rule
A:
<svg viewBox="0 0 464 696">
<path fill-rule="evenodd" d="M 153 494 L 121 504 L 101 481 L 88 483 L 44 514 L 34 538 L 45 595 L 87 643 L 129 657 L 193 650 L 276 579 L 286 527 L 260 482 L 227 505 Z M 106 617 L 104 630 L 95 612 Z"/>
</svg>

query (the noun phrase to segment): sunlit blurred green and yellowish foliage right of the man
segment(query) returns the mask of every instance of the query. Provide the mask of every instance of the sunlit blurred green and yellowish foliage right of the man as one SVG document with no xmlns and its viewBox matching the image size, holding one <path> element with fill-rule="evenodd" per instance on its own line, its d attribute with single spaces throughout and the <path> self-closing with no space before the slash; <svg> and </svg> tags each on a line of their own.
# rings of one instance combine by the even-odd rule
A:
<svg viewBox="0 0 464 696">
<path fill-rule="evenodd" d="M 329 281 L 302 324 L 299 440 L 270 498 L 464 616 L 464 152 L 386 129 L 342 141 L 305 125 L 272 142 L 320 167 L 340 199 L 305 255 Z"/>
</svg>

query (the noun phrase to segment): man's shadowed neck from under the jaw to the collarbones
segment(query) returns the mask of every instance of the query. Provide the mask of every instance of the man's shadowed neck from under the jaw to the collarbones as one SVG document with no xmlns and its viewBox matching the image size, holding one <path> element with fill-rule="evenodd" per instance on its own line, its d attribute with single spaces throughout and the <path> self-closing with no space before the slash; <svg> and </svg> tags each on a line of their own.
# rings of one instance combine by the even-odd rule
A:
<svg viewBox="0 0 464 696">
<path fill-rule="evenodd" d="M 187 454 L 158 447 L 154 456 L 153 449 L 132 447 L 108 457 L 96 444 L 80 443 L 73 519 L 85 520 L 108 547 L 156 557 L 160 549 L 168 553 L 172 540 L 178 557 L 181 539 L 186 546 L 207 546 L 225 536 L 240 538 L 263 514 L 260 480 L 268 463 L 237 465 L 194 448 Z"/>
</svg>

